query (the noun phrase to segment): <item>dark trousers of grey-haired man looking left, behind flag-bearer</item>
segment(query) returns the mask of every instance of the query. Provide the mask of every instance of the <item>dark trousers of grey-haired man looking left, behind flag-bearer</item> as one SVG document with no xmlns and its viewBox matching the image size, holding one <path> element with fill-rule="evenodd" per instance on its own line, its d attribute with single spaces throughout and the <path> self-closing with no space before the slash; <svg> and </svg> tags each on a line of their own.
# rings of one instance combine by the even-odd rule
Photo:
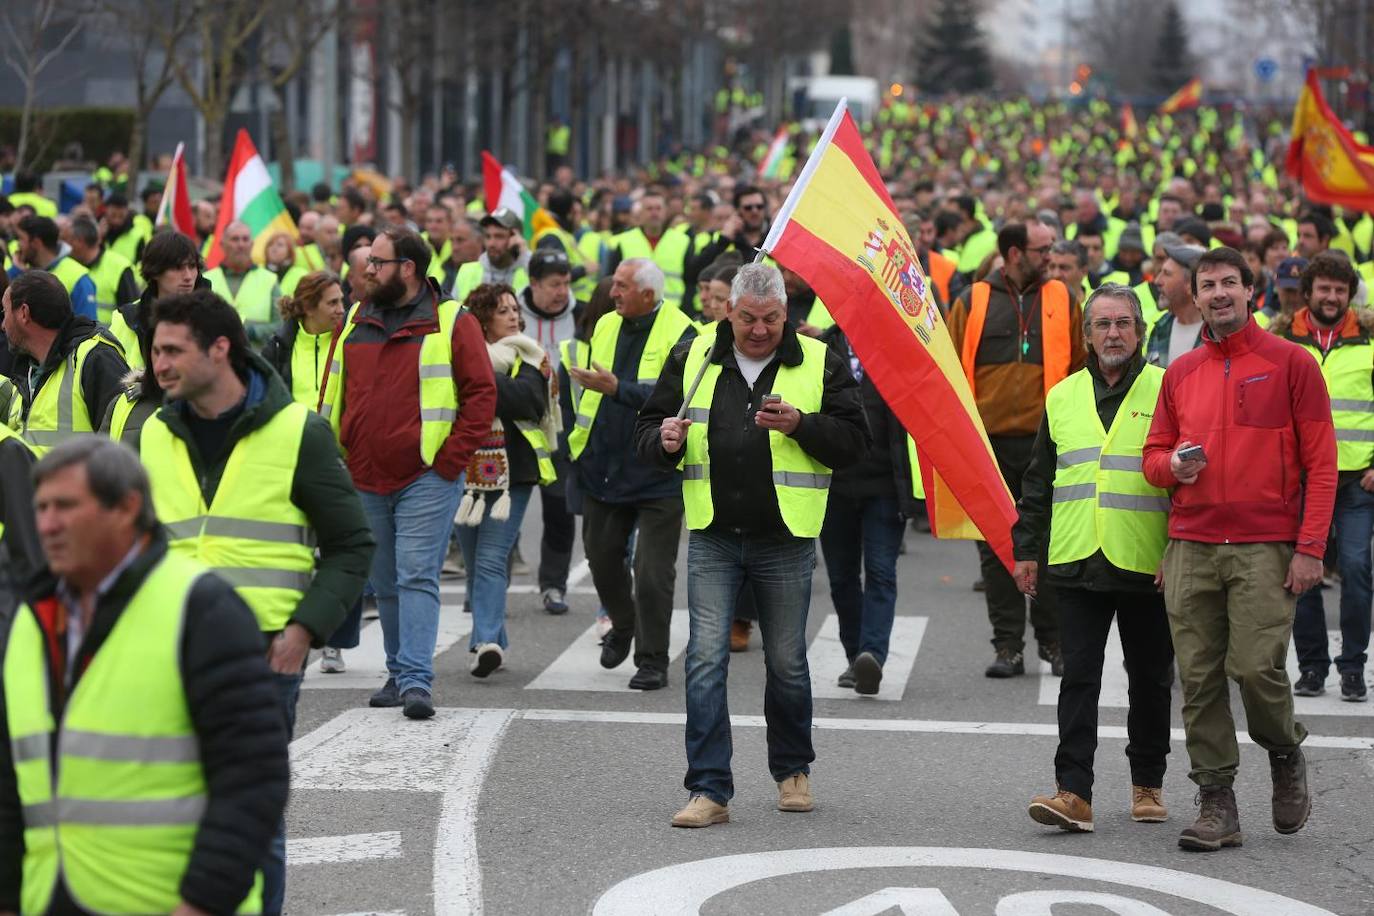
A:
<svg viewBox="0 0 1374 916">
<path fill-rule="evenodd" d="M 631 536 L 639 534 L 631 574 Z M 668 626 L 677 584 L 683 501 L 583 503 L 583 547 L 596 596 L 618 632 L 635 633 L 635 666 L 668 670 Z"/>
</svg>

